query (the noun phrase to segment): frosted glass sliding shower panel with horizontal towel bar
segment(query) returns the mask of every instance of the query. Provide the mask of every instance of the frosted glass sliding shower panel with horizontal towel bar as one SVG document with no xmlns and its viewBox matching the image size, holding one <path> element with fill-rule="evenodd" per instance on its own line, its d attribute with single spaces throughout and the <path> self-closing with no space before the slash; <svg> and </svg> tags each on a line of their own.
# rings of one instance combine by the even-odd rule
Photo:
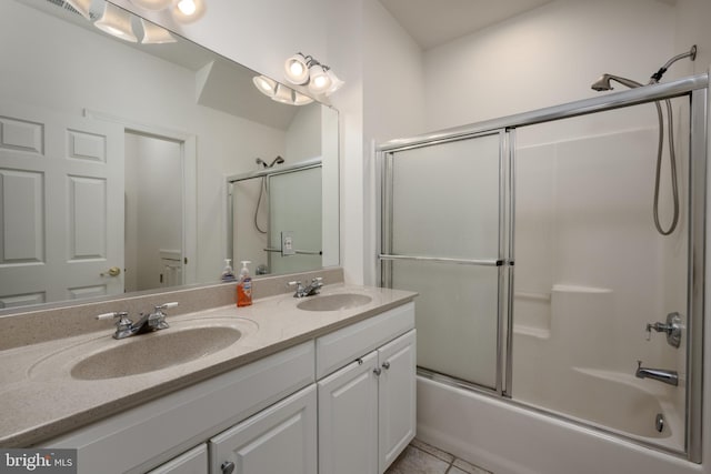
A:
<svg viewBox="0 0 711 474">
<path fill-rule="evenodd" d="M 381 271 L 420 293 L 418 366 L 501 391 L 507 159 L 498 131 L 384 155 Z"/>
</svg>

